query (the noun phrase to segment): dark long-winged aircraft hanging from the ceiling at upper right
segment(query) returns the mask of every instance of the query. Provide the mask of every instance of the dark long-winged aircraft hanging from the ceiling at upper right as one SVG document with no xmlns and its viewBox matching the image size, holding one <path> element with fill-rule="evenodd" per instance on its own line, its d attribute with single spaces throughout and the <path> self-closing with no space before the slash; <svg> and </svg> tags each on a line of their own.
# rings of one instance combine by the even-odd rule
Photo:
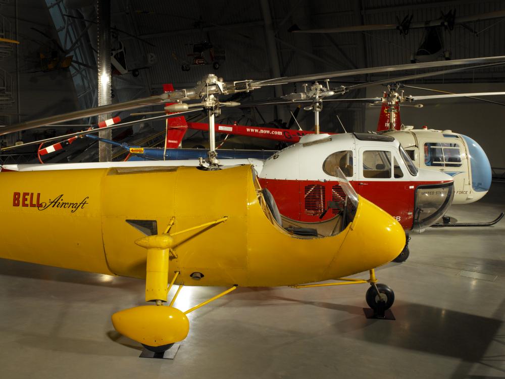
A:
<svg viewBox="0 0 505 379">
<path fill-rule="evenodd" d="M 429 62 L 437 59 L 450 60 L 451 52 L 446 46 L 443 30 L 452 31 L 456 25 L 460 25 L 468 29 L 475 36 L 480 32 L 476 31 L 473 26 L 468 25 L 470 22 L 479 22 L 484 20 L 492 20 L 505 17 L 505 11 L 495 11 L 471 16 L 456 16 L 456 9 L 446 13 L 440 12 L 440 17 L 436 20 L 412 22 L 414 15 L 407 15 L 400 20 L 396 16 L 395 24 L 377 24 L 377 25 L 352 25 L 341 26 L 336 28 L 320 28 L 320 29 L 305 29 L 301 30 L 296 24 L 292 25 L 288 31 L 292 33 L 348 33 L 348 32 L 367 32 L 379 30 L 396 30 L 400 35 L 407 35 L 411 29 L 424 29 L 423 36 L 419 42 L 419 46 L 412 53 L 411 63 Z"/>
</svg>

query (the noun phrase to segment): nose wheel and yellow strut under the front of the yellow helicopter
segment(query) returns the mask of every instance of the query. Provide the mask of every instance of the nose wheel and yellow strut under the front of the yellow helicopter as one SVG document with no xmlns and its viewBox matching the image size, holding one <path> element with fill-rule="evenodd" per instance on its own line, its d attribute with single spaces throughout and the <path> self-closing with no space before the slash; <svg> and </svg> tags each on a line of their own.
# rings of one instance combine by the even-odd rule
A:
<svg viewBox="0 0 505 379">
<path fill-rule="evenodd" d="M 321 283 L 313 285 L 300 285 L 291 286 L 292 288 L 310 288 L 310 287 L 328 287 L 328 286 L 343 286 L 352 285 L 360 283 L 370 283 L 370 288 L 368 289 L 365 299 L 370 308 L 363 308 L 365 316 L 367 318 L 377 318 L 383 320 L 395 320 L 393 312 L 389 308 L 394 303 L 394 292 L 382 283 L 377 283 L 377 278 L 375 277 L 375 269 L 369 270 L 369 279 L 355 279 L 355 278 L 338 278 L 335 280 L 340 280 L 334 283 Z"/>
</svg>

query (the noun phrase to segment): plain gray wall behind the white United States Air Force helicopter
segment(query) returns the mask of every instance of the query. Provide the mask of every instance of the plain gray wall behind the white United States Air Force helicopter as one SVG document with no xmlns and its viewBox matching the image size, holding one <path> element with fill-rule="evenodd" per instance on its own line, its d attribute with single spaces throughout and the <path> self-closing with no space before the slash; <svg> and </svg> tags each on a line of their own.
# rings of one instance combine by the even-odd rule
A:
<svg viewBox="0 0 505 379">
<path fill-rule="evenodd" d="M 416 84 L 413 84 L 416 85 Z M 419 84 L 454 93 L 505 91 L 502 83 L 476 84 Z M 382 96 L 384 87 L 370 87 L 367 97 Z M 405 94 L 431 95 L 432 91 L 404 88 Z M 505 96 L 486 97 L 488 100 L 505 103 Z M 419 102 L 423 108 L 402 107 L 401 122 L 421 128 L 446 130 L 468 135 L 475 139 L 486 152 L 491 167 L 505 167 L 505 106 L 485 103 L 473 99 L 456 98 L 447 100 L 425 100 Z M 365 129 L 376 130 L 380 107 L 366 107 Z"/>
</svg>

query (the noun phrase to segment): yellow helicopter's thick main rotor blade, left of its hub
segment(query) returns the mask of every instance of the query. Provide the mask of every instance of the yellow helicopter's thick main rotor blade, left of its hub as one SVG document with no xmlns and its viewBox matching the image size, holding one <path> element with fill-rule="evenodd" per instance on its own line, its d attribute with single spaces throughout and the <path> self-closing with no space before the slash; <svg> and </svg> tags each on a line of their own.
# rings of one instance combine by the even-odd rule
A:
<svg viewBox="0 0 505 379">
<path fill-rule="evenodd" d="M 60 122 L 77 120 L 79 118 L 92 117 L 100 114 L 115 113 L 119 111 L 126 111 L 128 109 L 148 107 L 150 105 L 163 103 L 164 101 L 166 101 L 169 97 L 168 93 L 172 92 L 166 92 L 158 96 L 151 96 L 148 98 L 131 100 L 124 103 L 103 105 L 96 108 L 89 108 L 80 111 L 69 112 L 63 115 L 49 116 L 38 120 L 22 122 L 12 126 L 6 126 L 4 128 L 0 128 L 0 135 L 5 135 L 21 130 L 33 129 L 39 126 L 45 126 L 47 124 L 57 124 Z"/>
</svg>

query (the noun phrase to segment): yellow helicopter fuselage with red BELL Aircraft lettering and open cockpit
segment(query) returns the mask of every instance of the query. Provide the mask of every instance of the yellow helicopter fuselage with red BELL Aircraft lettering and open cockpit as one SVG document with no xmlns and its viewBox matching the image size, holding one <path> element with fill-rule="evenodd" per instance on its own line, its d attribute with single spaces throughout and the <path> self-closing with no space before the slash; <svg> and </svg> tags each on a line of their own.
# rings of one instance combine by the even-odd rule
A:
<svg viewBox="0 0 505 379">
<path fill-rule="evenodd" d="M 0 257 L 145 278 L 144 234 L 132 226 L 175 217 L 169 272 L 190 286 L 284 286 L 339 278 L 395 258 L 405 233 L 359 198 L 356 215 L 335 235 L 289 233 L 269 217 L 250 166 L 218 171 L 149 167 L 2 172 Z M 297 201 L 297 199 L 293 199 Z M 129 220 L 130 222 L 127 222 Z M 203 274 L 192 278 L 191 274 Z"/>
</svg>

